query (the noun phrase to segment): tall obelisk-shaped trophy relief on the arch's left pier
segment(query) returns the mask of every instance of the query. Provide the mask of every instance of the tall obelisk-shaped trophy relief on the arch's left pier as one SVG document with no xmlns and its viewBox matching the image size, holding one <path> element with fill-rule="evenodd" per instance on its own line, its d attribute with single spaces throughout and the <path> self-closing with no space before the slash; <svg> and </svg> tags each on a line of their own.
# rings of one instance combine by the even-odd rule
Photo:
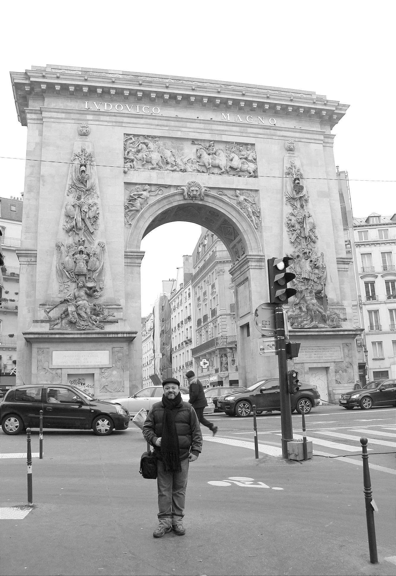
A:
<svg viewBox="0 0 396 576">
<path fill-rule="evenodd" d="M 44 309 L 50 330 L 102 330 L 115 321 L 101 304 L 113 297 L 113 287 L 93 146 L 81 140 L 74 144 L 55 243 L 48 290 L 55 304 Z"/>
</svg>

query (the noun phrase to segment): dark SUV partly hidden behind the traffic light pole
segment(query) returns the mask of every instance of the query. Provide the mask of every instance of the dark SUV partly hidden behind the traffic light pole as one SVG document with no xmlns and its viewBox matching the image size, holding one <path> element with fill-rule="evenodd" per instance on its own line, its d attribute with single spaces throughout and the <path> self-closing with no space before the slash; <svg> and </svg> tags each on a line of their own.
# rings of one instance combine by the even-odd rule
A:
<svg viewBox="0 0 396 576">
<path fill-rule="evenodd" d="M 299 391 L 290 396 L 291 411 L 308 414 L 312 407 L 318 406 L 321 397 L 317 386 L 301 381 L 300 385 Z M 224 396 L 218 404 L 228 416 L 249 416 L 252 414 L 253 404 L 256 405 L 256 414 L 262 414 L 264 410 L 280 411 L 279 380 L 275 378 L 260 380 L 246 388 L 245 392 L 234 392 Z"/>
</svg>

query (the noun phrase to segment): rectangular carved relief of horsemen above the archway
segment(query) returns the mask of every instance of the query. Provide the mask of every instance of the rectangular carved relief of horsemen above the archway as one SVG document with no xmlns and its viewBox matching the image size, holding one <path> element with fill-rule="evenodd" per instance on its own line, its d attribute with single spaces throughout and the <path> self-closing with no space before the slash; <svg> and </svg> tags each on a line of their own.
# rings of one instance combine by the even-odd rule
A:
<svg viewBox="0 0 396 576">
<path fill-rule="evenodd" d="M 157 136 L 124 135 L 124 173 L 128 170 L 172 170 L 257 177 L 253 144 L 207 143 Z"/>
</svg>

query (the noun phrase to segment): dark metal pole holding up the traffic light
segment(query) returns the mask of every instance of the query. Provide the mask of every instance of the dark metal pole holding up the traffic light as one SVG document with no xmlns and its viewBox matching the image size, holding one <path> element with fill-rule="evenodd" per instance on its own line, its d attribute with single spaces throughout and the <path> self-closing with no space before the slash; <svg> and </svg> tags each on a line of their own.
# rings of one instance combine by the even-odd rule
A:
<svg viewBox="0 0 396 576">
<path fill-rule="evenodd" d="M 287 356 L 285 347 L 285 330 L 283 306 L 275 305 L 275 329 L 277 335 L 277 353 L 279 366 L 280 426 L 282 433 L 282 456 L 288 460 L 287 442 L 293 439 L 291 425 L 290 395 L 287 386 Z"/>
</svg>

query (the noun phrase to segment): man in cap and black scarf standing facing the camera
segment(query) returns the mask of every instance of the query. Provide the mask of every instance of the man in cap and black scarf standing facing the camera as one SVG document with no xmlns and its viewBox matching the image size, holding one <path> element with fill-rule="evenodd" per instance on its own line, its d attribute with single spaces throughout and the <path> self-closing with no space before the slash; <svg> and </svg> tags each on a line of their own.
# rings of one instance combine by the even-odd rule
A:
<svg viewBox="0 0 396 576">
<path fill-rule="evenodd" d="M 171 530 L 185 534 L 183 526 L 189 463 L 202 450 L 202 433 L 192 406 L 181 399 L 176 378 L 162 382 L 161 402 L 155 403 L 143 425 L 146 442 L 154 446 L 157 458 L 158 520 L 154 538 Z"/>
</svg>

